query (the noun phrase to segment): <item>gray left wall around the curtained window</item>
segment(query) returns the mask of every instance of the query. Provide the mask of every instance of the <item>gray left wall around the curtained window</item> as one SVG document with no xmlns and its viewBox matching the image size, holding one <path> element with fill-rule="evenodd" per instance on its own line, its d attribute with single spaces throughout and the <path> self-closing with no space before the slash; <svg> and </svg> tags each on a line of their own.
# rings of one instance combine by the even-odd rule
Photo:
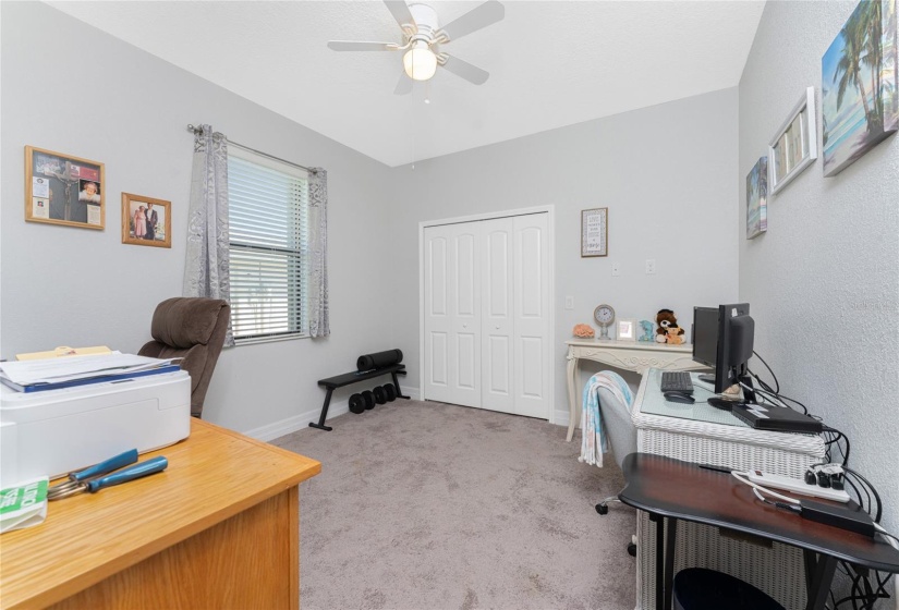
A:
<svg viewBox="0 0 899 610">
<path fill-rule="evenodd" d="M 2 74 L 3 357 L 57 345 L 136 352 L 149 339 L 156 304 L 181 294 L 193 154 L 185 127 L 199 122 L 328 170 L 335 331 L 224 351 L 204 417 L 247 431 L 318 410 L 316 380 L 393 346 L 380 322 L 384 258 L 372 255 L 388 227 L 385 166 L 38 2 L 2 2 Z M 25 222 L 25 145 L 106 163 L 105 231 Z M 172 202 L 171 249 L 121 243 L 122 192 Z"/>
</svg>

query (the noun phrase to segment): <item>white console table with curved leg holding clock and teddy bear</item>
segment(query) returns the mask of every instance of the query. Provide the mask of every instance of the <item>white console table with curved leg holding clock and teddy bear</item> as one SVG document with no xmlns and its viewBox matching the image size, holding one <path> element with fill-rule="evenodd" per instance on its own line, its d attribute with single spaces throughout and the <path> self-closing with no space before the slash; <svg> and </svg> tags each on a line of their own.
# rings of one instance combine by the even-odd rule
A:
<svg viewBox="0 0 899 610">
<path fill-rule="evenodd" d="M 669 345 L 639 341 L 615 341 L 598 339 L 575 339 L 566 341 L 568 345 L 568 437 L 574 435 L 574 427 L 581 414 L 578 392 L 578 361 L 587 359 L 624 370 L 634 370 L 641 376 L 648 368 L 663 370 L 698 370 L 707 368 L 693 359 L 693 346 Z"/>
</svg>

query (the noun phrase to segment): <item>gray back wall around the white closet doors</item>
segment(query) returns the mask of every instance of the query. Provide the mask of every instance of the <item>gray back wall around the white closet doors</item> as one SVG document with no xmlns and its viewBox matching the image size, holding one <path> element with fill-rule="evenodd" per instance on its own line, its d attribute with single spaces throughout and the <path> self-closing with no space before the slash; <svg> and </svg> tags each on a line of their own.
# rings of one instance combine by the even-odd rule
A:
<svg viewBox="0 0 899 610">
<path fill-rule="evenodd" d="M 641 319 L 669 307 L 689 329 L 694 305 L 737 296 L 736 141 L 731 88 L 396 169 L 406 191 L 392 211 L 392 319 L 409 359 L 418 362 L 418 222 L 554 205 L 554 402 L 557 422 L 567 422 L 563 342 L 599 303 Z M 609 208 L 609 256 L 581 258 L 581 210 L 595 207 Z M 654 276 L 644 273 L 647 258 L 656 259 Z M 621 274 L 612 277 L 616 261 Z M 418 386 L 417 366 L 409 382 Z"/>
</svg>

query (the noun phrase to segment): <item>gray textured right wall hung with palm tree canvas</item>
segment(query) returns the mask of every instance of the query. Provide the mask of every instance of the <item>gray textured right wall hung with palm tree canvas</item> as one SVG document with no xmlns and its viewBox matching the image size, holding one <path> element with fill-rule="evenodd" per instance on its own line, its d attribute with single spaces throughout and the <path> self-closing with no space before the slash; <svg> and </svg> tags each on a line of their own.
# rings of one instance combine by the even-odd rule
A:
<svg viewBox="0 0 899 610">
<path fill-rule="evenodd" d="M 740 298 L 782 391 L 852 440 L 851 464 L 899 529 L 899 139 L 835 178 L 822 159 L 768 200 L 768 231 L 743 235 L 745 175 L 805 90 L 855 2 L 768 2 L 740 82 Z"/>
</svg>

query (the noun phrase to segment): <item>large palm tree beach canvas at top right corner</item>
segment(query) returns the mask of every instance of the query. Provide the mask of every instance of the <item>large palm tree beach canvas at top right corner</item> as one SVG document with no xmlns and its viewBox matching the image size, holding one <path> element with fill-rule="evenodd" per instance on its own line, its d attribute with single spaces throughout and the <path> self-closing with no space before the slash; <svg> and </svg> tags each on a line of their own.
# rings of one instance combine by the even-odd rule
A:
<svg viewBox="0 0 899 610">
<path fill-rule="evenodd" d="M 862 0 L 824 53 L 824 175 L 836 175 L 899 129 L 896 0 Z"/>
</svg>

